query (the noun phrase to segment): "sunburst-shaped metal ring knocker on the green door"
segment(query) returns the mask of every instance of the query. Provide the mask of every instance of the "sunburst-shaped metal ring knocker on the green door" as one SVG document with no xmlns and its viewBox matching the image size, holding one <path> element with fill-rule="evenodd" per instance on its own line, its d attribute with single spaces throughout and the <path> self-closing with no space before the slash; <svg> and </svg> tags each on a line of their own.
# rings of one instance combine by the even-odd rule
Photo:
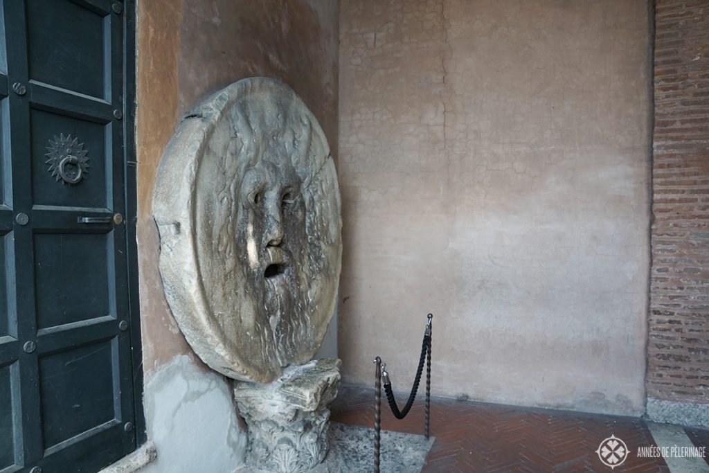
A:
<svg viewBox="0 0 709 473">
<path fill-rule="evenodd" d="M 79 143 L 78 138 L 72 138 L 72 135 L 65 137 L 64 133 L 58 138 L 55 135 L 54 140 L 49 140 L 47 150 L 49 152 L 45 156 L 49 159 L 45 164 L 49 165 L 48 171 L 57 178 L 57 182 L 62 179 L 62 184 L 74 185 L 86 178 L 89 173 L 88 150 L 84 150 L 84 143 Z"/>
</svg>

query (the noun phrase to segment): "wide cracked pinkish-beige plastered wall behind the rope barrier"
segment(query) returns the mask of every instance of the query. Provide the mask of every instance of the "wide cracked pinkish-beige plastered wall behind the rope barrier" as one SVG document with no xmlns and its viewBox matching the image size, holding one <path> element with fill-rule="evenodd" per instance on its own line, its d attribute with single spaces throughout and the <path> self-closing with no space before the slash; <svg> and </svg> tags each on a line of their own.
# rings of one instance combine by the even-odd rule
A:
<svg viewBox="0 0 709 473">
<path fill-rule="evenodd" d="M 345 380 L 643 411 L 645 0 L 342 0 Z"/>
</svg>

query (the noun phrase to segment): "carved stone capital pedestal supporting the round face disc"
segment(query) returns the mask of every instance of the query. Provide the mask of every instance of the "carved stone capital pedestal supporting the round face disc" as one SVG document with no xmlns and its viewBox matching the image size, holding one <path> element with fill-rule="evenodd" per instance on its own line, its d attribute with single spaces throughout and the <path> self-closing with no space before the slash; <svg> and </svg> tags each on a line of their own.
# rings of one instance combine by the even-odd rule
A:
<svg viewBox="0 0 709 473">
<path fill-rule="evenodd" d="M 267 472 L 310 472 L 328 452 L 328 406 L 337 396 L 342 362 L 313 360 L 284 369 L 268 384 L 235 382 L 234 397 L 249 428 L 247 463 Z"/>
</svg>

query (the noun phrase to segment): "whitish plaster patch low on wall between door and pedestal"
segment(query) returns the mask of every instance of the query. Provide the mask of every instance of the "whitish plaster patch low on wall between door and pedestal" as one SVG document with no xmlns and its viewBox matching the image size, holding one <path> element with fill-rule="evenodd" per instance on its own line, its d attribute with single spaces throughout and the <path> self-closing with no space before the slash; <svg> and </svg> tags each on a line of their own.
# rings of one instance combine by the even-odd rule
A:
<svg viewBox="0 0 709 473">
<path fill-rule="evenodd" d="M 233 472 L 244 463 L 246 432 L 224 377 L 179 355 L 145 385 L 144 396 L 157 460 L 142 472 Z"/>
</svg>

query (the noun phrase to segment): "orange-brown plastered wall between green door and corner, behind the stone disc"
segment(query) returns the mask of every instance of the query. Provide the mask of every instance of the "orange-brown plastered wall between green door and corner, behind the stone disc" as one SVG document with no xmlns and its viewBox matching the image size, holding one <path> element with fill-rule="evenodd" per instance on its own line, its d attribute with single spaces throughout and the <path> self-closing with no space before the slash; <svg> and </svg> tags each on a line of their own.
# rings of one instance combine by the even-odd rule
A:
<svg viewBox="0 0 709 473">
<path fill-rule="evenodd" d="M 147 434 L 158 455 L 148 472 L 233 471 L 245 450 L 230 382 L 194 355 L 162 292 L 151 201 L 164 147 L 180 117 L 208 94 L 262 75 L 301 95 L 334 153 L 337 15 L 337 2 L 329 0 L 138 2 L 140 316 Z"/>
</svg>

